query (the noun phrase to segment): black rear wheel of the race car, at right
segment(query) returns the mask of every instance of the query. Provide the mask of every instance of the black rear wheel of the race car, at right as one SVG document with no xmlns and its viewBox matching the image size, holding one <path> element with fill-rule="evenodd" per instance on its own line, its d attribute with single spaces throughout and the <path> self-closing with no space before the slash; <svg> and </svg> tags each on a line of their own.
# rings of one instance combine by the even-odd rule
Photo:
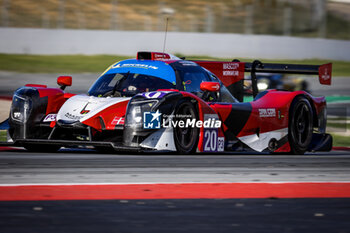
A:
<svg viewBox="0 0 350 233">
<path fill-rule="evenodd" d="M 307 150 L 312 139 L 312 122 L 309 101 L 305 97 L 295 98 L 289 110 L 288 139 L 292 154 L 304 154 Z"/>
</svg>

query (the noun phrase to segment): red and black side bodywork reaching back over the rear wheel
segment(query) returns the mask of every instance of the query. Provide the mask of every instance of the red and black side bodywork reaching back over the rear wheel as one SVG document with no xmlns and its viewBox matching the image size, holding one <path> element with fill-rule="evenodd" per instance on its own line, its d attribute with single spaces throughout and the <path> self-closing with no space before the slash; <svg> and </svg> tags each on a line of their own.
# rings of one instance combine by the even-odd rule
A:
<svg viewBox="0 0 350 233">
<path fill-rule="evenodd" d="M 229 140 L 228 135 L 240 138 L 288 128 L 290 105 L 298 95 L 310 100 L 317 115 L 326 107 L 324 97 L 315 98 L 304 91 L 277 90 L 269 90 L 259 99 L 249 103 L 214 103 L 210 107 L 219 115 L 226 140 Z M 286 142 L 275 152 L 289 151 L 290 145 Z"/>
</svg>

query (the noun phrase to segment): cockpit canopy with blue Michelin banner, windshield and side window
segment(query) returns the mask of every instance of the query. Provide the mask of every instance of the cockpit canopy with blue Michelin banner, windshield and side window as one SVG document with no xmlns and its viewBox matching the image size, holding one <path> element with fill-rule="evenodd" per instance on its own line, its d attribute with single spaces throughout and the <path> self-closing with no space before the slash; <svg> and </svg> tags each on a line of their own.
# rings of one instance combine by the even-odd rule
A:
<svg viewBox="0 0 350 233">
<path fill-rule="evenodd" d="M 88 94 L 96 97 L 132 97 L 159 89 L 177 89 L 203 95 L 202 82 L 219 81 L 214 74 L 195 62 L 185 60 L 130 59 L 112 65 L 92 85 Z M 221 99 L 235 102 L 222 85 Z"/>
</svg>

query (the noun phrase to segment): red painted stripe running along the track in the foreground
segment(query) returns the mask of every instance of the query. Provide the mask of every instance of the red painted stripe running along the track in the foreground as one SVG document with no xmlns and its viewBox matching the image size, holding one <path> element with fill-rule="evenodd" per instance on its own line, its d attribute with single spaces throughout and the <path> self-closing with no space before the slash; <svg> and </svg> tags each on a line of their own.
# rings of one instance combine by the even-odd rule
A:
<svg viewBox="0 0 350 233">
<path fill-rule="evenodd" d="M 349 197 L 350 182 L 0 186 L 0 201 Z"/>
</svg>

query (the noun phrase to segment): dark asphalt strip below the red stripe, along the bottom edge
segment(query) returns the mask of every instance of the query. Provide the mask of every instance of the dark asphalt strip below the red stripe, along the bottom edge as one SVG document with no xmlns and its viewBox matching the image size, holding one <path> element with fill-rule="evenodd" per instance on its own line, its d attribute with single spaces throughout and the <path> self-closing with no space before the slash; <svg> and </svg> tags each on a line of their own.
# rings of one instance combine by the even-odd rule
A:
<svg viewBox="0 0 350 233">
<path fill-rule="evenodd" d="M 350 199 L 0 202 L 1 232 L 350 232 Z"/>
</svg>

